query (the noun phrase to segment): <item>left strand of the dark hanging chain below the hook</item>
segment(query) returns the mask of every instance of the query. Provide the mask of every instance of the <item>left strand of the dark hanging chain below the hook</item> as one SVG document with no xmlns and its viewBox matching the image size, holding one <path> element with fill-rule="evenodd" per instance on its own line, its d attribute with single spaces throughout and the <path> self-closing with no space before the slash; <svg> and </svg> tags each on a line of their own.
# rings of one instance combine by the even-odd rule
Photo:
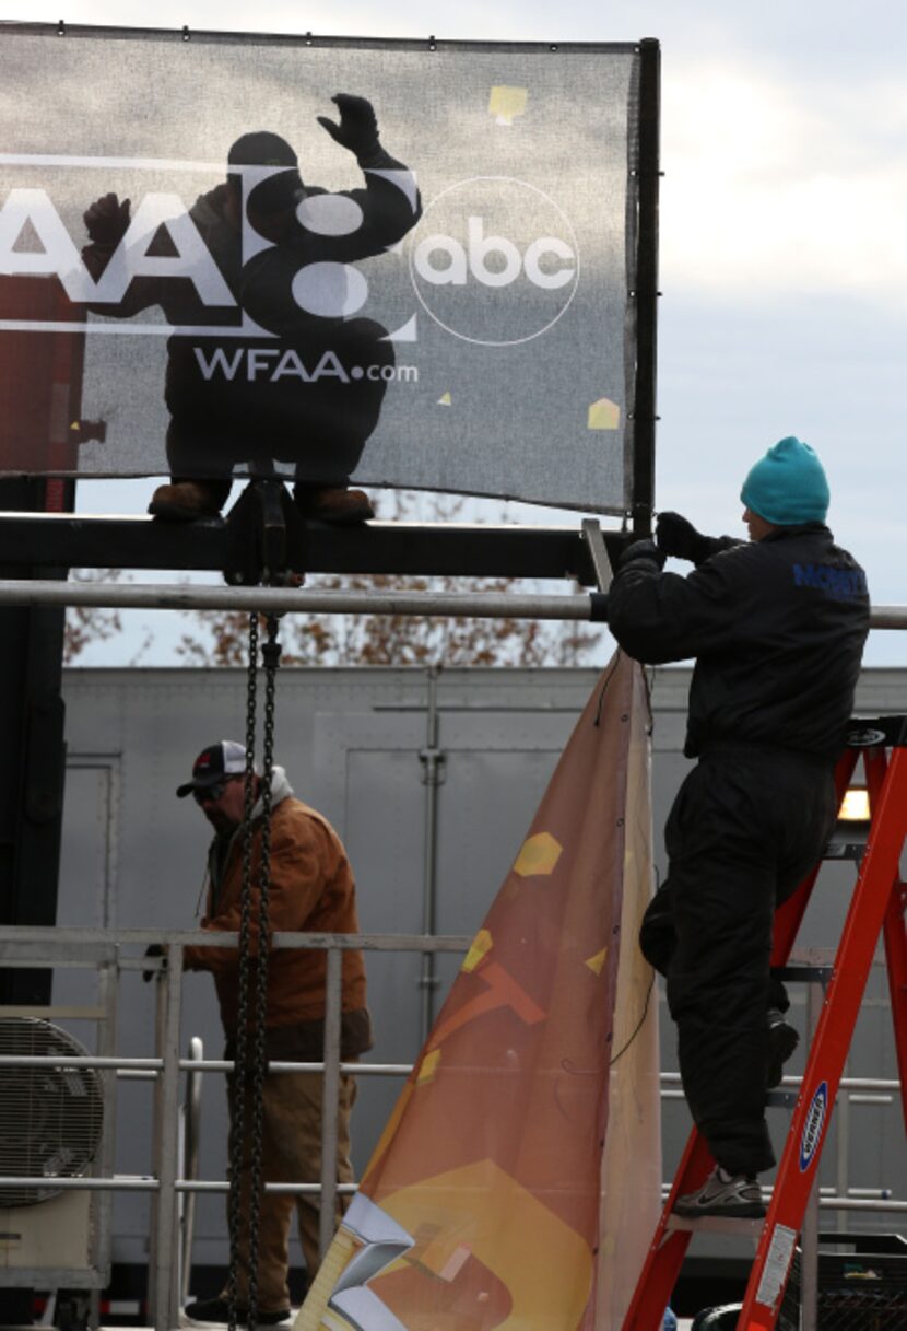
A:
<svg viewBox="0 0 907 1331">
<path fill-rule="evenodd" d="M 242 823 L 242 886 L 239 894 L 239 990 L 237 1000 L 237 1032 L 233 1063 L 231 1089 L 231 1137 L 230 1137 L 230 1198 L 227 1221 L 230 1230 L 230 1266 L 227 1271 L 229 1327 L 237 1326 L 237 1295 L 239 1271 L 239 1231 L 242 1226 L 242 1177 L 243 1146 L 246 1135 L 246 1042 L 249 1028 L 249 961 L 251 933 L 251 813 L 255 807 L 255 721 L 258 708 L 258 615 L 249 616 L 249 667 L 246 679 L 246 776 Z M 258 1203 L 255 1203 L 255 1222 Z M 251 1226 L 250 1226 L 251 1229 Z M 255 1246 L 258 1246 L 258 1225 L 255 1223 Z M 255 1282 L 257 1283 L 257 1282 Z M 250 1290 L 251 1303 L 251 1290 Z M 249 1318 L 254 1315 L 249 1308 Z M 253 1323 L 254 1324 L 254 1323 Z"/>
</svg>

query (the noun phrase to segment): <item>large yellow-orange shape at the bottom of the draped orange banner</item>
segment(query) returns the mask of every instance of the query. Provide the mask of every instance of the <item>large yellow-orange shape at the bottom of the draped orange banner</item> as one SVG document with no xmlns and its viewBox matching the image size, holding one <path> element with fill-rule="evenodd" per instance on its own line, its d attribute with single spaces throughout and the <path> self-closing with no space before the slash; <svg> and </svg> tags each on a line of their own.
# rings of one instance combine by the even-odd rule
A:
<svg viewBox="0 0 907 1331">
<path fill-rule="evenodd" d="M 495 1331 L 579 1326 L 592 1287 L 588 1243 L 495 1161 L 400 1189 L 382 1197 L 380 1207 L 411 1234 L 438 1229 L 419 1252 L 419 1263 L 436 1276 L 450 1279 L 467 1247 L 501 1280 L 512 1304 Z M 380 1275 L 374 1283 L 380 1298 Z M 406 1311 L 395 1312 L 406 1324 Z"/>
</svg>

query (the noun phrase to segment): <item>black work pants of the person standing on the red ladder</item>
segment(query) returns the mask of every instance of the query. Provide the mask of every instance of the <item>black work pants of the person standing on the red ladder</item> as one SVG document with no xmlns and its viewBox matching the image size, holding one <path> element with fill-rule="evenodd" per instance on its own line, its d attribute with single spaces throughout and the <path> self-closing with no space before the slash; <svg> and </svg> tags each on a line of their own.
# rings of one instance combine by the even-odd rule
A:
<svg viewBox="0 0 907 1331">
<path fill-rule="evenodd" d="M 731 1174 L 775 1163 L 765 1122 L 775 906 L 821 857 L 837 815 L 833 769 L 782 751 L 722 748 L 684 781 L 665 825 L 668 880 L 640 932 L 668 977 L 684 1091 Z"/>
</svg>

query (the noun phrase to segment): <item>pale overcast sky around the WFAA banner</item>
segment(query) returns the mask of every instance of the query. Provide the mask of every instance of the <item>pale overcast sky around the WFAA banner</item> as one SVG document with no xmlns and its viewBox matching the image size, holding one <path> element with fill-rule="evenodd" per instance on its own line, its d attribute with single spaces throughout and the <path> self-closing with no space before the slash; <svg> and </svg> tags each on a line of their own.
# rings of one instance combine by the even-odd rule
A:
<svg viewBox="0 0 907 1331">
<path fill-rule="evenodd" d="M 657 506 L 743 535 L 742 476 L 797 434 L 826 465 L 830 526 L 866 566 L 874 602 L 907 603 L 907 12 L 895 0 L 29 0 L 0 3 L 0 17 L 56 21 L 60 9 L 73 24 L 660 39 Z M 81 487 L 85 507 L 108 507 L 100 484 Z M 128 511 L 148 488 L 125 487 Z M 867 663 L 907 664 L 906 638 L 872 634 Z M 90 660 L 116 663 L 110 650 Z"/>
</svg>

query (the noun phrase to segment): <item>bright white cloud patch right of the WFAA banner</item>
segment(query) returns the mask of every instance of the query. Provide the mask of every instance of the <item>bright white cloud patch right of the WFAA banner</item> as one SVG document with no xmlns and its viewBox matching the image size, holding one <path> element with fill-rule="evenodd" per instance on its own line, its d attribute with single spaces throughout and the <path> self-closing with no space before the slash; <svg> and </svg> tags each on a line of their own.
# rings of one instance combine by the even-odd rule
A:
<svg viewBox="0 0 907 1331">
<path fill-rule="evenodd" d="M 662 120 L 665 285 L 734 303 L 819 291 L 903 303 L 900 88 L 856 97 L 685 63 L 665 79 Z"/>
</svg>

